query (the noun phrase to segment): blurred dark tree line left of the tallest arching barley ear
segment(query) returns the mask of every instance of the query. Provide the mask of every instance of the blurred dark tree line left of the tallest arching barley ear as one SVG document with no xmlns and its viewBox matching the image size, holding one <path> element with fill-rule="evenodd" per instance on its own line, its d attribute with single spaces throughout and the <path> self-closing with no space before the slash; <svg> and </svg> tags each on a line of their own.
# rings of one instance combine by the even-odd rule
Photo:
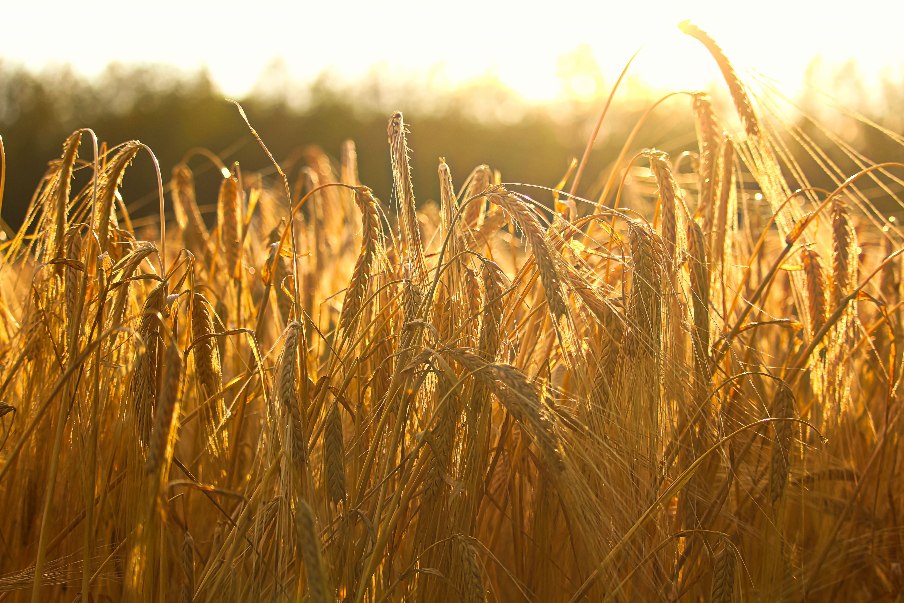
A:
<svg viewBox="0 0 904 603">
<path fill-rule="evenodd" d="M 578 49 L 571 59 L 570 67 L 565 66 L 570 73 L 589 74 L 601 87 L 592 55 Z M 607 90 L 599 88 L 595 98 L 603 93 Z M 638 94 L 649 91 L 638 90 Z M 352 138 L 358 148 L 361 181 L 384 202 L 389 202 L 391 194 L 386 124 L 391 110 L 401 109 L 410 124 L 415 193 L 424 202 L 438 197 L 440 156 L 447 158 L 457 186 L 484 163 L 500 170 L 505 182 L 554 186 L 570 158 L 586 145 L 598 112 L 598 102 L 573 100 L 566 99 L 560 106 L 532 106 L 491 75 L 454 90 L 434 89 L 413 80 L 387 83 L 379 70 L 345 84 L 325 73 L 301 86 L 274 63 L 241 102 L 280 161 L 311 144 L 336 156 L 343 141 Z M 657 110 L 645 127 L 648 133 L 661 133 L 653 142 L 671 153 L 694 144 L 690 112 L 683 102 Z M 614 108 L 610 113 L 581 193 L 598 195 L 597 174 L 614 160 L 643 104 Z M 205 71 L 113 63 L 98 78 L 86 80 L 66 67 L 33 73 L 0 61 L 0 136 L 8 162 L 3 218 L 11 226 L 23 220 L 47 162 L 60 156 L 63 140 L 77 127 L 92 128 L 108 146 L 133 138 L 146 143 L 167 181 L 172 166 L 194 146 L 223 154 L 227 162 L 240 161 L 246 173 L 271 169 L 259 146 L 252 144 L 236 109 L 223 99 Z M 650 143 L 648 136 L 645 144 Z M 89 148 L 82 147 L 81 159 L 90 160 Z M 202 159 L 195 162 L 198 201 L 214 203 L 218 176 Z M 76 187 L 88 183 L 88 172 L 77 173 Z M 136 216 L 150 212 L 155 191 L 155 172 L 146 157 L 138 155 L 123 184 L 130 211 Z M 541 203 L 551 198 L 538 189 L 524 192 Z"/>
</svg>

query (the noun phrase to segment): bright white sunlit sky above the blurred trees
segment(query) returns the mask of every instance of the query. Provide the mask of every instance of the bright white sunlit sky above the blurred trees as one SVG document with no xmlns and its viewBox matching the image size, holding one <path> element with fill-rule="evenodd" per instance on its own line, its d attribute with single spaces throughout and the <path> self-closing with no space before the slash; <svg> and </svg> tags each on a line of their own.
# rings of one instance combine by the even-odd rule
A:
<svg viewBox="0 0 904 603">
<path fill-rule="evenodd" d="M 326 69 L 354 80 L 381 63 L 408 78 L 438 72 L 450 84 L 491 74 L 528 99 L 553 99 L 562 90 L 558 59 L 579 44 L 589 44 L 609 82 L 646 43 L 633 73 L 657 88 L 700 88 L 719 74 L 678 32 L 684 19 L 737 66 L 793 88 L 816 54 L 853 57 L 872 75 L 890 64 L 896 80 L 904 64 L 900 0 L 0 0 L 0 14 L 0 59 L 33 69 L 68 62 L 86 75 L 114 60 L 206 65 L 237 96 L 281 56 L 298 80 Z"/>
</svg>

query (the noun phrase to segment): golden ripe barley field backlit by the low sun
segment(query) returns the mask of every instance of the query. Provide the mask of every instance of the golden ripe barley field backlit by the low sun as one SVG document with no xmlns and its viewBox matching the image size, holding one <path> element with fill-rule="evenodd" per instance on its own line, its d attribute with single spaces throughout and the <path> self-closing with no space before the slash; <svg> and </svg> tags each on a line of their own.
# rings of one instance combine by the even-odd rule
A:
<svg viewBox="0 0 904 603">
<path fill-rule="evenodd" d="M 399 112 L 384 199 L 352 141 L 73 132 L 2 248 L 0 600 L 901 600 L 904 165 L 680 27 L 734 111 L 675 93 L 698 150 L 632 137 L 593 199 L 605 110 L 558 185 L 440 159 L 431 204 Z"/>
</svg>

